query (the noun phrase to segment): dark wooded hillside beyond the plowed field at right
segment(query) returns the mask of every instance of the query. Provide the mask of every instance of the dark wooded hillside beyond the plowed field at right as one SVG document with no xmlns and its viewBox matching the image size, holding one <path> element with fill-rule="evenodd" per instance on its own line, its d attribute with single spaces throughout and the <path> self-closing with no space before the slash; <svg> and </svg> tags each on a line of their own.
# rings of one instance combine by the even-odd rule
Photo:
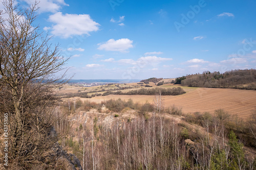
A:
<svg viewBox="0 0 256 170">
<path fill-rule="evenodd" d="M 204 71 L 202 74 L 176 78 L 176 84 L 189 87 L 237 88 L 256 90 L 256 70 Z"/>
</svg>

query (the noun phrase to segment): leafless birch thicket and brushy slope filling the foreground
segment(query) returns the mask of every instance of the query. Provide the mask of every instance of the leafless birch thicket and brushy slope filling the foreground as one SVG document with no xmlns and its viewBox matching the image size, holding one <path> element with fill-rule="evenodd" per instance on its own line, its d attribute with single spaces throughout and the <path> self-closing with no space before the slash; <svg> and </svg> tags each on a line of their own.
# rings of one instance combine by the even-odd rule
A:
<svg viewBox="0 0 256 170">
<path fill-rule="evenodd" d="M 78 121 L 75 130 L 74 126 L 69 128 L 69 123 L 63 124 L 63 127 L 62 124 L 56 125 L 57 131 L 64 128 L 62 132 L 66 134 L 61 139 L 62 145 L 77 153 L 84 169 L 256 167 L 253 152 L 248 150 L 248 147 L 256 146 L 256 112 L 249 120 L 242 120 L 222 109 L 217 109 L 213 115 L 207 112 L 184 115 L 181 109 L 175 107 L 157 110 L 156 101 L 153 105 L 140 105 L 132 100 L 108 100 L 101 104 L 77 102 L 76 114 L 79 110 L 91 109 L 100 113 L 115 113 L 111 124 L 103 123 L 103 119 L 94 113 L 88 115 L 92 117 L 87 123 Z M 74 105 L 70 104 L 67 101 L 59 111 L 74 117 Z M 102 110 L 102 106 L 106 109 Z M 139 111 L 137 117 L 119 118 L 131 109 Z M 65 116 L 61 117 L 65 119 Z M 177 122 L 177 118 L 180 121 Z"/>
</svg>

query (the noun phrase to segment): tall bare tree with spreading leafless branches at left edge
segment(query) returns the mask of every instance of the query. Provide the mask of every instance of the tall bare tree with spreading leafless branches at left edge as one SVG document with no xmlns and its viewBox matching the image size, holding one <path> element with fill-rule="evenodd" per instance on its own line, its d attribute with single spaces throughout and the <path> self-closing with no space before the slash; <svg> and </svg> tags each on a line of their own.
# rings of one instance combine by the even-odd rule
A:
<svg viewBox="0 0 256 170">
<path fill-rule="evenodd" d="M 65 69 L 63 64 L 67 60 L 60 56 L 58 45 L 52 46 L 50 38 L 34 25 L 37 3 L 27 9 L 15 5 L 14 0 L 4 0 L 3 4 L 0 86 L 5 97 L 1 97 L 1 114 L 11 115 L 11 157 L 32 162 L 37 159 L 33 154 L 42 146 L 40 138 L 46 137 L 51 127 L 52 112 L 47 108 L 56 101 L 53 90 L 63 83 L 60 80 L 65 75 L 55 74 Z M 46 124 L 47 128 L 41 127 Z"/>
</svg>

